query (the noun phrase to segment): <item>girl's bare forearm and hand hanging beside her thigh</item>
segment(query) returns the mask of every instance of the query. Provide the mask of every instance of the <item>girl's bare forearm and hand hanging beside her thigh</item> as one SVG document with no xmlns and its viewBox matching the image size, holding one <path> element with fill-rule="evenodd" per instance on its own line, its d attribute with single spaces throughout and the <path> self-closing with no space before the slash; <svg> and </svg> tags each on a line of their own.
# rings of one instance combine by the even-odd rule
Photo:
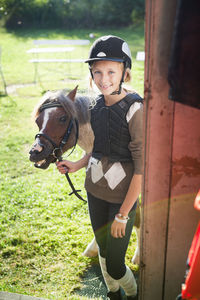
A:
<svg viewBox="0 0 200 300">
<path fill-rule="evenodd" d="M 119 213 L 123 216 L 128 216 L 129 211 L 133 207 L 134 203 L 137 201 L 141 193 L 142 175 L 135 174 L 131 180 L 126 198 L 122 203 Z M 118 217 L 120 219 L 120 217 Z M 123 219 L 122 219 L 123 220 Z M 125 236 L 126 223 L 120 223 L 116 220 L 113 221 L 111 225 L 111 234 L 115 238 L 122 238 Z"/>
</svg>

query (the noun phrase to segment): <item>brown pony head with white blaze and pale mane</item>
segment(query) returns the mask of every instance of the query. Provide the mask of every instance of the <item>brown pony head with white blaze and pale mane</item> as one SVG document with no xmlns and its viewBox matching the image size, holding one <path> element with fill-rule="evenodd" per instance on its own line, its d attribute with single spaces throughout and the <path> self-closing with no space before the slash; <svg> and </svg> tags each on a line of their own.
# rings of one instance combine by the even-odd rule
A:
<svg viewBox="0 0 200 300">
<path fill-rule="evenodd" d="M 64 153 L 76 144 L 78 134 L 74 105 L 76 91 L 77 87 L 68 95 L 65 91 L 48 91 L 35 107 L 33 116 L 39 134 L 36 135 L 29 152 L 29 159 L 35 163 L 35 167 L 47 169 L 50 163 L 57 160 L 57 152 Z M 61 148 L 61 142 L 69 127 L 71 129 L 67 142 Z"/>
</svg>

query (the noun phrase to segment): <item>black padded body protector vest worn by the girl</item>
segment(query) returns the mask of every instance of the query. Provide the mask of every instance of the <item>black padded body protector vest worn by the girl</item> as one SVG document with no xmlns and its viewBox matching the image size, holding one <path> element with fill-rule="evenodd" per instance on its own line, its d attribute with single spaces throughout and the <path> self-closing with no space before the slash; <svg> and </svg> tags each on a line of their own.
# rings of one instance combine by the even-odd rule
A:
<svg viewBox="0 0 200 300">
<path fill-rule="evenodd" d="M 91 110 L 91 126 L 94 132 L 92 156 L 100 160 L 107 156 L 110 162 L 132 160 L 128 149 L 131 137 L 126 120 L 127 112 L 134 102 L 143 102 L 138 94 L 128 94 L 119 102 L 106 106 L 101 95 Z"/>
</svg>

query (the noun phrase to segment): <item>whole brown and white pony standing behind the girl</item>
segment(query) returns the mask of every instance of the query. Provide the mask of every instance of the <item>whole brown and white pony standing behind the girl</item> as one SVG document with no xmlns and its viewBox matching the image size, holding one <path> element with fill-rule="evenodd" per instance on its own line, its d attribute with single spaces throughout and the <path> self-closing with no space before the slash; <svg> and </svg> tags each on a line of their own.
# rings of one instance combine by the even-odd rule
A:
<svg viewBox="0 0 200 300">
<path fill-rule="evenodd" d="M 68 95 L 65 91 L 48 91 L 35 107 L 33 116 L 40 132 L 29 152 L 30 161 L 34 162 L 35 167 L 47 169 L 64 152 L 75 147 L 76 143 L 86 153 L 92 151 L 94 135 L 90 125 L 91 101 L 87 97 L 76 96 L 76 92 L 77 87 Z M 139 219 L 135 224 L 138 230 Z M 83 254 L 91 257 L 96 256 L 97 252 L 97 244 L 93 239 Z M 132 262 L 139 263 L 138 259 L 139 244 Z"/>
</svg>

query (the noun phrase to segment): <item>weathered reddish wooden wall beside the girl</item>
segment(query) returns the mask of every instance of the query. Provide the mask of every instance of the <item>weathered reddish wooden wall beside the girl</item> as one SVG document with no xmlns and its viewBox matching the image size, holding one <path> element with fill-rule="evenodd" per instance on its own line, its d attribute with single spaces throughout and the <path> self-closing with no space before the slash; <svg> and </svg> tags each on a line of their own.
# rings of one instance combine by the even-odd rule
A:
<svg viewBox="0 0 200 300">
<path fill-rule="evenodd" d="M 146 0 L 140 300 L 175 300 L 199 212 L 200 110 L 168 99 L 176 1 Z"/>
</svg>

